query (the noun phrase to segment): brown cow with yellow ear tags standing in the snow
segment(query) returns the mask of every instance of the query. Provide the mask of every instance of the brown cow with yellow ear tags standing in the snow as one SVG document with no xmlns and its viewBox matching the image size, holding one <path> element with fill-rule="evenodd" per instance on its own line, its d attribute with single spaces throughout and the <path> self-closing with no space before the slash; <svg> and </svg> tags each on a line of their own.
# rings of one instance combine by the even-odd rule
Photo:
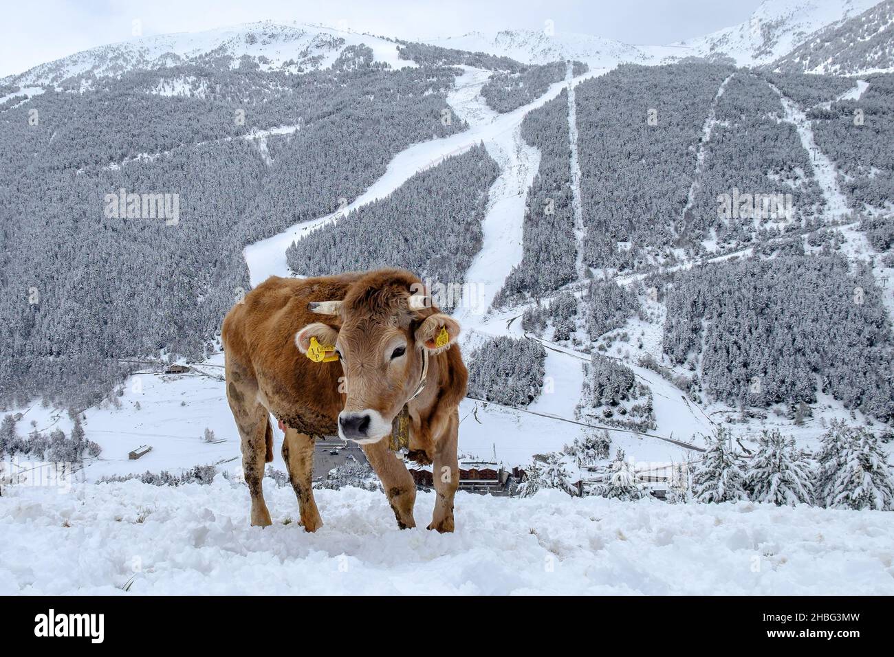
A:
<svg viewBox="0 0 894 657">
<path fill-rule="evenodd" d="M 409 454 L 434 464 L 437 498 L 428 528 L 453 531 L 467 371 L 454 345 L 460 325 L 429 299 L 417 276 L 380 269 L 271 276 L 232 307 L 222 330 L 226 392 L 242 439 L 252 525 L 271 524 L 261 480 L 273 460 L 272 413 L 285 427 L 283 460 L 308 532 L 322 525 L 312 488 L 314 442 L 336 431 L 362 445 L 398 526 L 416 526 L 413 478 L 389 450 L 395 417 L 395 426 L 401 417 L 407 424 L 406 406 Z M 315 362 L 308 350 L 327 358 Z"/>
</svg>

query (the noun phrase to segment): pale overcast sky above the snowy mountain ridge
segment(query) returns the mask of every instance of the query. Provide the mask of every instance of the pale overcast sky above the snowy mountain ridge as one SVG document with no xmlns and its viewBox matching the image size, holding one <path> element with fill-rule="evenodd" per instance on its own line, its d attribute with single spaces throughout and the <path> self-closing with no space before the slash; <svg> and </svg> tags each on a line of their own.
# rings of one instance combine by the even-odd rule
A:
<svg viewBox="0 0 894 657">
<path fill-rule="evenodd" d="M 401 38 L 478 30 L 582 32 L 635 44 L 697 37 L 746 21 L 759 0 L 31 0 L 6 3 L 0 22 L 0 76 L 79 50 L 125 41 L 139 19 L 144 36 L 243 22 L 299 21 Z"/>
</svg>

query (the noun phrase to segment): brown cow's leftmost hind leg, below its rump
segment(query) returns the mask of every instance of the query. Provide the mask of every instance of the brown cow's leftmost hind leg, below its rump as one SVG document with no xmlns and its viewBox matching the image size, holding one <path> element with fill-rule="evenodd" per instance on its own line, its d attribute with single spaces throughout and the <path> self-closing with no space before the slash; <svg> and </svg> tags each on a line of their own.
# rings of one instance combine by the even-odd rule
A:
<svg viewBox="0 0 894 657">
<path fill-rule="evenodd" d="M 226 396 L 242 439 L 242 472 L 251 495 L 251 525 L 268 526 L 272 523 L 261 481 L 264 479 L 264 464 L 273 460 L 270 414 L 257 401 L 257 391 L 252 394 L 231 381 L 227 384 Z"/>
</svg>

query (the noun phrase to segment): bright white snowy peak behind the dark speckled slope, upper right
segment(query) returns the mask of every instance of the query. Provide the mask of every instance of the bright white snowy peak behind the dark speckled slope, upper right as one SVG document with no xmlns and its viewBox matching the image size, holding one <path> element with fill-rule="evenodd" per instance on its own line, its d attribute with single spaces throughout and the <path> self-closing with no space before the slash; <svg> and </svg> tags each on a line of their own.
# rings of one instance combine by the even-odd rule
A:
<svg viewBox="0 0 894 657">
<path fill-rule="evenodd" d="M 874 4 L 878 0 L 764 0 L 747 21 L 674 46 L 692 55 L 728 55 L 742 66 L 771 63 L 815 31 L 838 27 Z"/>
</svg>

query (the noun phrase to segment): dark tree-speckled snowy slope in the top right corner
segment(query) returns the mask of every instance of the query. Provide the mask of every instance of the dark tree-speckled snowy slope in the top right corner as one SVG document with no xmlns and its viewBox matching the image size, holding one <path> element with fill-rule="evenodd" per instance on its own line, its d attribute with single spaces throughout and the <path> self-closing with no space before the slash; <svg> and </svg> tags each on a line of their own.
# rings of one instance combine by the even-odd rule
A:
<svg viewBox="0 0 894 657">
<path fill-rule="evenodd" d="M 894 71 L 894 0 L 815 32 L 773 71 L 856 75 Z"/>
</svg>

